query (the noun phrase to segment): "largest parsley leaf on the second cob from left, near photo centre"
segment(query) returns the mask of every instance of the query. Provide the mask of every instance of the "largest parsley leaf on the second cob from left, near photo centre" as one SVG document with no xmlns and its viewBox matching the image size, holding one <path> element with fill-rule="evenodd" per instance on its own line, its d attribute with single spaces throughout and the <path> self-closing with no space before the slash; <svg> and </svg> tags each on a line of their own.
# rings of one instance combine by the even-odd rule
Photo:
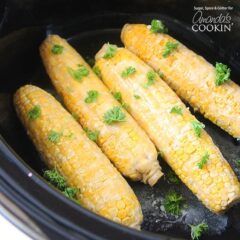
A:
<svg viewBox="0 0 240 240">
<path fill-rule="evenodd" d="M 121 107 L 115 106 L 104 114 L 103 119 L 106 124 L 110 125 L 115 122 L 124 122 L 126 115 L 122 112 Z"/>
</svg>

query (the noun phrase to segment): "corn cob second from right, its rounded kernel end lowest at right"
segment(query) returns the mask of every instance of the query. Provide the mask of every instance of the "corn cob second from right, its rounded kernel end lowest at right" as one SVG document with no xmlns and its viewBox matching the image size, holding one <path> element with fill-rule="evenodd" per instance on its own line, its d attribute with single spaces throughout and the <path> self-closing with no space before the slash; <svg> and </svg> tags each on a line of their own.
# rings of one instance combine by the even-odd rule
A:
<svg viewBox="0 0 240 240">
<path fill-rule="evenodd" d="M 127 49 L 118 48 L 111 59 L 102 58 L 105 51 L 106 45 L 96 55 L 102 80 L 110 90 L 122 93 L 130 114 L 180 179 L 215 213 L 238 201 L 237 177 L 179 97 Z M 135 72 L 123 78 L 129 66 Z"/>
</svg>

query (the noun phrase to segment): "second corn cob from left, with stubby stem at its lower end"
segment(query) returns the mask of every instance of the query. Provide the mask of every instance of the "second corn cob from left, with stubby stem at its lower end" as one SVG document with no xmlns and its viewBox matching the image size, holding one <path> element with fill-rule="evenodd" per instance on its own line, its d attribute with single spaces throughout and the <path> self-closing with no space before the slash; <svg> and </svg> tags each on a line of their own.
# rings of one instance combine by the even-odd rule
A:
<svg viewBox="0 0 240 240">
<path fill-rule="evenodd" d="M 54 46 L 62 47 L 61 54 L 53 54 Z M 154 185 L 162 176 L 154 144 L 124 109 L 121 111 L 126 116 L 125 121 L 116 124 L 104 122 L 104 114 L 114 106 L 119 109 L 121 105 L 83 58 L 56 35 L 43 42 L 40 52 L 66 107 L 75 113 L 84 128 L 98 133 L 97 144 L 118 170 L 132 180 Z M 87 72 L 82 79 L 74 79 L 69 73 L 69 69 L 76 69 L 78 65 Z M 87 98 L 89 93 L 92 93 L 92 99 L 91 96 Z"/>
</svg>

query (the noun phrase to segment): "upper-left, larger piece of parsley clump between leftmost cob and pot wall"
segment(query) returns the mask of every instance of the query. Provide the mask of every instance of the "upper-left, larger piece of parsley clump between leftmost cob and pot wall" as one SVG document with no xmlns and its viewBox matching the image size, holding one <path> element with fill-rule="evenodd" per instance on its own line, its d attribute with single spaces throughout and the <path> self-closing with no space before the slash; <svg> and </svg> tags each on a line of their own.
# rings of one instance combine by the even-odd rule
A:
<svg viewBox="0 0 240 240">
<path fill-rule="evenodd" d="M 67 187 L 64 177 L 55 169 L 44 171 L 43 177 L 60 191 Z"/>
</svg>

